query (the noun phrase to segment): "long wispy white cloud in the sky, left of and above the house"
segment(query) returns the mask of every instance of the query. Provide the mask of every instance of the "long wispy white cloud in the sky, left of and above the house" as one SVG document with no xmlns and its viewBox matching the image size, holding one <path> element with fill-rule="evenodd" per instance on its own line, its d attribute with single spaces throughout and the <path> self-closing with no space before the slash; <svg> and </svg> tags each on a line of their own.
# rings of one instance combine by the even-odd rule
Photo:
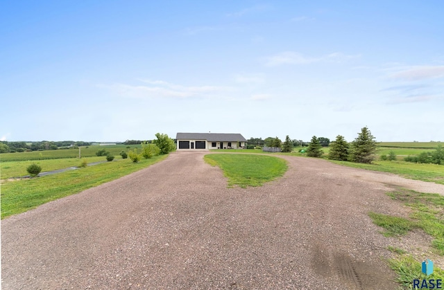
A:
<svg viewBox="0 0 444 290">
<path fill-rule="evenodd" d="M 120 96 L 128 98 L 191 98 L 211 97 L 214 93 L 221 93 L 228 91 L 227 87 L 215 87 L 215 86 L 182 86 L 178 84 L 171 84 L 162 80 L 139 80 L 148 85 L 130 85 L 130 84 L 112 84 L 106 87 L 115 91 Z"/>
</svg>

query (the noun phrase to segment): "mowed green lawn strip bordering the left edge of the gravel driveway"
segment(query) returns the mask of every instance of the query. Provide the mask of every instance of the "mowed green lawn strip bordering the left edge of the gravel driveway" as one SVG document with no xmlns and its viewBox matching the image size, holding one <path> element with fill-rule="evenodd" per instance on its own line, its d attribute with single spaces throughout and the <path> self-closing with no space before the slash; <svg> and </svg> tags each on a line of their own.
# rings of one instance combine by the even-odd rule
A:
<svg viewBox="0 0 444 290">
<path fill-rule="evenodd" d="M 162 161 L 167 156 L 168 154 L 143 158 L 139 163 L 124 159 L 49 176 L 7 181 L 1 184 L 1 219 L 119 179 Z"/>
</svg>

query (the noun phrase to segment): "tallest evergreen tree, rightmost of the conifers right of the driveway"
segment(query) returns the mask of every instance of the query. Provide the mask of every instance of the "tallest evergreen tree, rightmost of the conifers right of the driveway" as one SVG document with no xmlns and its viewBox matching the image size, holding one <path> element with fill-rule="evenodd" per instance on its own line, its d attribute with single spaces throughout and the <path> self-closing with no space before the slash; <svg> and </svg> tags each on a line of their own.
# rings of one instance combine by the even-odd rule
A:
<svg viewBox="0 0 444 290">
<path fill-rule="evenodd" d="M 357 163 L 372 163 L 375 159 L 376 141 L 367 127 L 361 129 L 355 141 L 352 142 L 350 161 Z"/>
</svg>

